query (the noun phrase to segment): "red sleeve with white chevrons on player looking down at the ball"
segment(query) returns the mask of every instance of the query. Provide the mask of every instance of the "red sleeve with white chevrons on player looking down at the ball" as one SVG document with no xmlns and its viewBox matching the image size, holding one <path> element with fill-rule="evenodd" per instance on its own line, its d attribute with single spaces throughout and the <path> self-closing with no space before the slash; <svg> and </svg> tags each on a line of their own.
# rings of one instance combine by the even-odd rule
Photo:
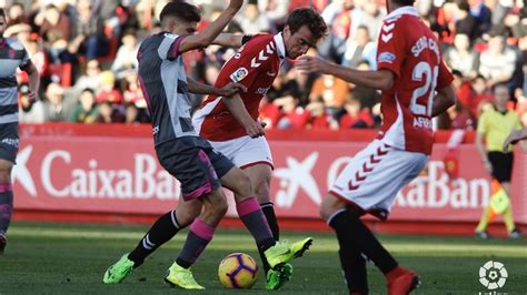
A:
<svg viewBox="0 0 527 295">
<path fill-rule="evenodd" d="M 221 72 L 230 82 L 249 88 L 255 83 L 259 71 L 265 71 L 276 58 L 276 50 L 272 39 L 251 40 L 226 63 Z"/>
</svg>

